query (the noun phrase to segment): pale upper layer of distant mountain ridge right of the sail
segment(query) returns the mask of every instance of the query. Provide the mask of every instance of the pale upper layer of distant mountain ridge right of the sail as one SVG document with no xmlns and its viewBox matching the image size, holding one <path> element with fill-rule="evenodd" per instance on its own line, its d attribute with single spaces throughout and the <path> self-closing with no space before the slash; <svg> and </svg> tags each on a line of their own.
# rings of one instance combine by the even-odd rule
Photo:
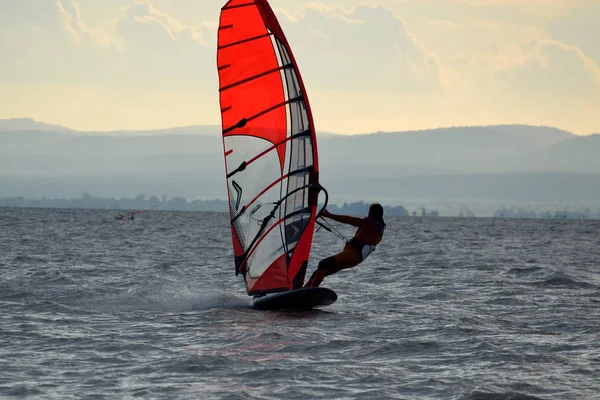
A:
<svg viewBox="0 0 600 400">
<path fill-rule="evenodd" d="M 323 165 L 435 168 L 455 173 L 505 172 L 524 155 L 574 137 L 555 128 L 523 125 L 440 128 L 333 136 L 319 141 Z"/>
</svg>

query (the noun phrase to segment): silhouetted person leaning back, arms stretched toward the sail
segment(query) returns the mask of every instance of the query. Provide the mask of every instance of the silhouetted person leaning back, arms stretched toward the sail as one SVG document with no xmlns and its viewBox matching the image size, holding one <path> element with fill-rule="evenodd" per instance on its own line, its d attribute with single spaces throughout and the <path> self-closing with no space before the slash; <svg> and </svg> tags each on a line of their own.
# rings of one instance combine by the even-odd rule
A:
<svg viewBox="0 0 600 400">
<path fill-rule="evenodd" d="M 378 203 L 371 204 L 368 216 L 362 219 L 348 215 L 332 214 L 327 210 L 323 210 L 321 216 L 343 224 L 356 226 L 358 230 L 340 253 L 319 262 L 317 270 L 304 285 L 305 288 L 318 287 L 326 276 L 333 275 L 346 268 L 355 267 L 363 262 L 375 250 L 375 246 L 381 242 L 385 230 L 383 207 Z"/>
</svg>

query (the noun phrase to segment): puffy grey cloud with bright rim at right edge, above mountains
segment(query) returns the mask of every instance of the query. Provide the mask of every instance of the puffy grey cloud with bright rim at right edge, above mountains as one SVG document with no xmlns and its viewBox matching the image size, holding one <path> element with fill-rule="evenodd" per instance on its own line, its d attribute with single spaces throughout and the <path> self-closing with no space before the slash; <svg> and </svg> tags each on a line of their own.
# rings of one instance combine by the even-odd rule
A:
<svg viewBox="0 0 600 400">
<path fill-rule="evenodd" d="M 496 90 L 487 93 L 505 118 L 579 134 L 598 130 L 600 68 L 576 46 L 540 41 L 522 65 L 494 77 Z"/>
</svg>

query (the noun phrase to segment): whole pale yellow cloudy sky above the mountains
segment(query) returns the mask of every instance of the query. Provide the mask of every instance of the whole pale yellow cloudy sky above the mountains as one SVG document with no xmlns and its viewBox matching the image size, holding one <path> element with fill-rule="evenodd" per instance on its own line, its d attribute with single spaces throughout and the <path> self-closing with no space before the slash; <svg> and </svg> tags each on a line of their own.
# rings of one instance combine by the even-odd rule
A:
<svg viewBox="0 0 600 400">
<path fill-rule="evenodd" d="M 0 0 L 0 118 L 220 124 L 224 0 Z M 600 0 L 271 0 L 317 130 L 600 133 Z"/>
</svg>

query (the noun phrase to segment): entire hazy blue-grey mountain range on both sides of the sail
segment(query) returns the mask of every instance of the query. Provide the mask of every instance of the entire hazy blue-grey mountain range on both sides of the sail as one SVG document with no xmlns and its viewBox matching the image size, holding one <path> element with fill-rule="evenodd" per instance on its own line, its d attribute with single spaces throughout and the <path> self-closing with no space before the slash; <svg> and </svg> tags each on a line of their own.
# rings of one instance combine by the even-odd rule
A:
<svg viewBox="0 0 600 400">
<path fill-rule="evenodd" d="M 0 127 L 0 197 L 225 196 L 220 126 L 80 132 L 0 120 Z M 592 174 L 600 174 L 600 135 L 498 125 L 318 138 L 321 182 L 337 199 L 598 198 L 591 186 L 600 177 Z"/>
</svg>

